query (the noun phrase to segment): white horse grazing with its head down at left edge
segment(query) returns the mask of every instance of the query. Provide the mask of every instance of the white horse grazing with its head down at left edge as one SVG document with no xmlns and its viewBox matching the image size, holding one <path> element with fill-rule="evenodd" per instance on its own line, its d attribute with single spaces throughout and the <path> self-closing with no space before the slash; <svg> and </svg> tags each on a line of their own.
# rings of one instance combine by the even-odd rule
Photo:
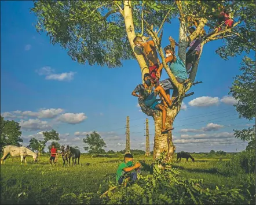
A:
<svg viewBox="0 0 256 205">
<path fill-rule="evenodd" d="M 8 145 L 3 147 L 3 157 L 1 158 L 1 164 L 5 163 L 5 159 L 10 154 L 11 156 L 17 157 L 20 156 L 20 164 L 22 165 L 23 159 L 25 164 L 27 165 L 26 156 L 33 156 L 34 162 L 37 161 L 38 155 L 35 152 L 32 152 L 26 147 L 16 147 L 12 145 Z"/>
</svg>

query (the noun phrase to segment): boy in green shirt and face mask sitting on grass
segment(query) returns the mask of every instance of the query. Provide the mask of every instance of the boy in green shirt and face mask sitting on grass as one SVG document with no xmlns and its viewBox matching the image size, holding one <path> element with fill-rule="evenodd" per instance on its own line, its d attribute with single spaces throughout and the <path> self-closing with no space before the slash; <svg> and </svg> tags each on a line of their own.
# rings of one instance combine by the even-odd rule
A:
<svg viewBox="0 0 256 205">
<path fill-rule="evenodd" d="M 116 182 L 122 184 L 125 178 L 129 178 L 129 181 L 134 182 L 137 180 L 137 174 L 140 173 L 140 163 L 133 165 L 133 155 L 130 153 L 125 154 L 125 162 L 120 163 L 118 170 L 116 171 Z M 126 184 L 126 182 L 125 182 Z"/>
</svg>

